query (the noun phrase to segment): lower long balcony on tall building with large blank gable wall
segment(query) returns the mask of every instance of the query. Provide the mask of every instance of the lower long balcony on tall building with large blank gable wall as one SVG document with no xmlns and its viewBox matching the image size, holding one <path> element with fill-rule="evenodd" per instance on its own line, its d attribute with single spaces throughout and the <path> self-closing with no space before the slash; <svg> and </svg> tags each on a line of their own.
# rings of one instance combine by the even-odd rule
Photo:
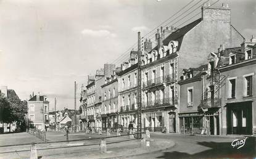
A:
<svg viewBox="0 0 256 159">
<path fill-rule="evenodd" d="M 142 108 L 156 108 L 178 104 L 178 98 L 165 98 L 158 100 L 149 100 L 147 103 L 142 103 Z"/>
</svg>

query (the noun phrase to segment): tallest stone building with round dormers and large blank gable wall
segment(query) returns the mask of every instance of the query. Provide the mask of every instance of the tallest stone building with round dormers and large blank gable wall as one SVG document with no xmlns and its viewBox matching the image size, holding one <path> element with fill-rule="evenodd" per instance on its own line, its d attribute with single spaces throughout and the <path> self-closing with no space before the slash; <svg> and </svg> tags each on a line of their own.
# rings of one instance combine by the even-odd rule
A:
<svg viewBox="0 0 256 159">
<path fill-rule="evenodd" d="M 231 25 L 231 10 L 202 7 L 202 17 L 176 29 L 158 31 L 157 46 L 142 55 L 142 120 L 144 128 L 179 132 L 178 77 L 183 69 L 197 68 L 207 61 L 220 42 L 239 46 L 244 38 Z"/>
</svg>

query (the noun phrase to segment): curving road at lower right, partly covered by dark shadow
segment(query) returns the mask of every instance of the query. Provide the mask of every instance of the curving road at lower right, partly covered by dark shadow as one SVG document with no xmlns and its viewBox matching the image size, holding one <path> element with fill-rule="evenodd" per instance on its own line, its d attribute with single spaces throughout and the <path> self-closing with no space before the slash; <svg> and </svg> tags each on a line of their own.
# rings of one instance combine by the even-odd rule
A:
<svg viewBox="0 0 256 159">
<path fill-rule="evenodd" d="M 157 153 L 147 153 L 133 158 L 254 158 L 255 139 L 247 139 L 241 149 L 233 149 L 231 142 L 237 137 L 185 136 L 180 134 L 155 134 L 153 138 L 168 139 L 175 147 Z"/>
</svg>

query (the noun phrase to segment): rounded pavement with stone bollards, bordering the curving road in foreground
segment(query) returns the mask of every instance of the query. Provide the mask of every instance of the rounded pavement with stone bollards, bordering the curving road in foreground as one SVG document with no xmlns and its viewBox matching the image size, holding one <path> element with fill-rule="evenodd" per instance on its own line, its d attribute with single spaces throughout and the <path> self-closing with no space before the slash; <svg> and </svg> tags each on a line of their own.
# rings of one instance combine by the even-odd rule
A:
<svg viewBox="0 0 256 159">
<path fill-rule="evenodd" d="M 99 152 L 99 145 L 90 147 L 90 150 L 85 148 L 81 152 L 45 155 L 42 158 L 129 158 L 144 153 L 159 152 L 175 145 L 172 141 L 162 139 L 152 140 L 150 147 L 141 147 L 140 140 L 126 141 L 115 144 L 108 144 L 107 153 Z"/>
</svg>

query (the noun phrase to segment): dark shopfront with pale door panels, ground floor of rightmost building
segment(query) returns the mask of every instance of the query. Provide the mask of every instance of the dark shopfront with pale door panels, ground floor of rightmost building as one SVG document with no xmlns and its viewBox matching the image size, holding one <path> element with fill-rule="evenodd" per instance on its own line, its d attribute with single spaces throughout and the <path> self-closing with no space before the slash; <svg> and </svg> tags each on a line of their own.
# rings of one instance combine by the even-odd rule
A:
<svg viewBox="0 0 256 159">
<path fill-rule="evenodd" d="M 227 104 L 227 134 L 252 134 L 252 102 Z"/>
</svg>

